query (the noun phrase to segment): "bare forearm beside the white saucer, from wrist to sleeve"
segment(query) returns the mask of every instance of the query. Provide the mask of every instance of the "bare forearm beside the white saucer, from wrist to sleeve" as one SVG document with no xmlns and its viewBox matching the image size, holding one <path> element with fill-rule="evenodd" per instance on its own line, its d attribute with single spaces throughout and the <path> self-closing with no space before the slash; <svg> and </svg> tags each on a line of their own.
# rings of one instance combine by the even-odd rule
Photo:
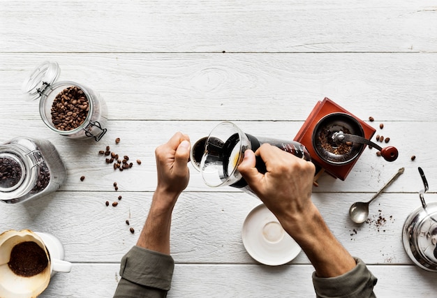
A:
<svg viewBox="0 0 437 298">
<path fill-rule="evenodd" d="M 355 267 L 355 260 L 334 237 L 313 204 L 302 218 L 285 221 L 283 225 L 302 247 L 316 269 L 317 276 L 340 276 Z"/>
</svg>

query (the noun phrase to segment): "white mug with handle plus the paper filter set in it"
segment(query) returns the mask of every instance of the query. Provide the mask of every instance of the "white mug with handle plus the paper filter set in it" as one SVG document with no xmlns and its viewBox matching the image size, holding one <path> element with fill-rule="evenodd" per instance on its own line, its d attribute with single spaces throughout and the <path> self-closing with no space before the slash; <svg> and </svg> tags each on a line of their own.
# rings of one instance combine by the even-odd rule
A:
<svg viewBox="0 0 437 298">
<path fill-rule="evenodd" d="M 47 266 L 33 276 L 14 273 L 8 265 L 10 253 L 17 244 L 32 241 L 43 249 Z M 47 288 L 50 277 L 56 272 L 70 272 L 71 262 L 64 261 L 64 246 L 52 234 L 31 230 L 8 230 L 0 234 L 0 297 L 36 297 Z"/>
</svg>

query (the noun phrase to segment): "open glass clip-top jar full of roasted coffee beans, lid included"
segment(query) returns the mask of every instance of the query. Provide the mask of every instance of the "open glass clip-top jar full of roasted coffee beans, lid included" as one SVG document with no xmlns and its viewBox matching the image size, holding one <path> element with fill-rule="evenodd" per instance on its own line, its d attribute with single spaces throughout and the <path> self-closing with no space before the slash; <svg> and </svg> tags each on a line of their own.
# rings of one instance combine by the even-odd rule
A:
<svg viewBox="0 0 437 298">
<path fill-rule="evenodd" d="M 73 139 L 101 140 L 107 129 L 106 104 L 96 92 L 75 82 L 56 82 L 60 68 L 45 61 L 24 81 L 28 100 L 40 100 L 41 119 L 52 131 Z"/>
</svg>

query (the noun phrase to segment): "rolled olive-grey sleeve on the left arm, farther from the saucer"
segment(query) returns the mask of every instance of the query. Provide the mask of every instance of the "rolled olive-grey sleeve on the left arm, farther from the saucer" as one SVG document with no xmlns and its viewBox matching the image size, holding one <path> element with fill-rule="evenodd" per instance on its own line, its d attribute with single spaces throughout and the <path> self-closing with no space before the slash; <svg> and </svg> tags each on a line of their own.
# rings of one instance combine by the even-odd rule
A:
<svg viewBox="0 0 437 298">
<path fill-rule="evenodd" d="M 121 259 L 114 297 L 166 297 L 174 269 L 170 255 L 133 246 Z"/>
</svg>

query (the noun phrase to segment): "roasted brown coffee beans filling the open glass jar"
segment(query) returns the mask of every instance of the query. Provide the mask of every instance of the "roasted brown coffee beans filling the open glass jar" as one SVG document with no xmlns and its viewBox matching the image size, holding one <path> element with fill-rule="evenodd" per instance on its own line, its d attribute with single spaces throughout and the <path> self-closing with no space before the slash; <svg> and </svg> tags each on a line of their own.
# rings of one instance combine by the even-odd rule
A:
<svg viewBox="0 0 437 298">
<path fill-rule="evenodd" d="M 89 112 L 89 101 L 82 89 L 68 87 L 54 98 L 52 123 L 59 131 L 72 131 L 81 126 Z"/>
</svg>

